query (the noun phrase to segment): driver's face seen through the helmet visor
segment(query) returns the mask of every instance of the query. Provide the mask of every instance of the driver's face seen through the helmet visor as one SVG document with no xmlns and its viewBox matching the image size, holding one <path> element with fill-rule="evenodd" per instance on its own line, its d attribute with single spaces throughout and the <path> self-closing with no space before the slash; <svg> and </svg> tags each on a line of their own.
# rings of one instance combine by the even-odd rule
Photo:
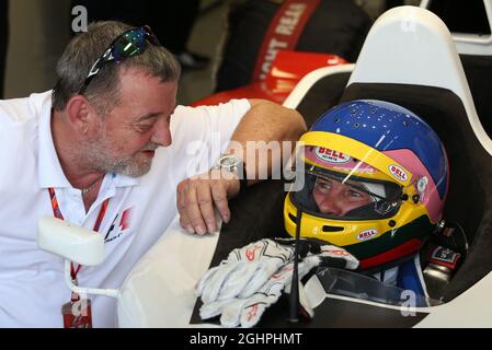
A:
<svg viewBox="0 0 492 350">
<path fill-rule="evenodd" d="M 368 194 L 354 189 L 350 185 L 323 178 L 317 179 L 312 197 L 321 213 L 336 217 L 344 217 L 351 210 L 373 201 Z"/>
</svg>

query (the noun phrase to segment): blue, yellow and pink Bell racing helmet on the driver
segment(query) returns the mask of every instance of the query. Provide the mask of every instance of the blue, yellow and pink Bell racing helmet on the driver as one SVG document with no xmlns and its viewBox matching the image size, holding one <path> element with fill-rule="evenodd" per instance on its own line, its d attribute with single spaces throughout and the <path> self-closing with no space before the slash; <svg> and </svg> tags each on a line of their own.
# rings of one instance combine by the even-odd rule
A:
<svg viewBox="0 0 492 350">
<path fill-rule="evenodd" d="M 358 100 L 324 113 L 295 154 L 284 223 L 342 246 L 359 269 L 388 268 L 417 253 L 443 215 L 449 170 L 434 130 L 392 103 Z"/>
</svg>

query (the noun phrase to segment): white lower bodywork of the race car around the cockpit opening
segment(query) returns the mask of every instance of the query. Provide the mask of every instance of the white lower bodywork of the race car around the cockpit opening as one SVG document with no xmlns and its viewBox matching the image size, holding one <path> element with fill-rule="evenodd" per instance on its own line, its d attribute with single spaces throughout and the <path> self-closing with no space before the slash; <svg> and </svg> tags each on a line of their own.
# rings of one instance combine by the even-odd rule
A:
<svg viewBox="0 0 492 350">
<path fill-rule="evenodd" d="M 178 219 L 178 218 L 176 218 Z M 186 328 L 216 327 L 204 323 L 191 325 L 196 298 L 195 285 L 207 271 L 218 242 L 219 233 L 198 237 L 188 235 L 175 225 L 144 257 L 128 276 L 118 299 L 118 326 L 124 328 Z M 319 296 L 313 280 L 306 284 L 307 295 Z M 492 327 L 492 303 L 488 300 L 492 291 L 492 272 L 451 302 L 432 307 L 419 307 L 419 313 L 428 313 L 415 327 Z M 311 296 L 312 298 L 312 296 Z M 358 304 L 405 312 L 400 306 L 390 306 L 370 301 L 323 294 L 323 300 L 344 301 L 356 308 Z M 316 313 L 316 308 L 314 308 Z M 316 317 L 316 315 L 314 315 Z"/>
</svg>

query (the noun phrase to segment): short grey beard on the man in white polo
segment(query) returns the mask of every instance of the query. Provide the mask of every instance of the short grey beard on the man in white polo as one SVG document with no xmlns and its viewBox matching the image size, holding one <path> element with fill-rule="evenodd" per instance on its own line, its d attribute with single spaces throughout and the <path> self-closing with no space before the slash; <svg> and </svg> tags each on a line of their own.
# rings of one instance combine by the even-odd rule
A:
<svg viewBox="0 0 492 350">
<path fill-rule="evenodd" d="M 103 173 L 117 173 L 129 177 L 140 177 L 150 171 L 152 158 L 142 154 L 144 151 L 155 151 L 160 145 L 153 142 L 147 143 L 131 155 L 117 158 L 107 152 L 111 144 L 107 137 L 103 135 L 100 139 L 83 144 L 83 162 L 91 164 L 91 168 Z"/>
</svg>

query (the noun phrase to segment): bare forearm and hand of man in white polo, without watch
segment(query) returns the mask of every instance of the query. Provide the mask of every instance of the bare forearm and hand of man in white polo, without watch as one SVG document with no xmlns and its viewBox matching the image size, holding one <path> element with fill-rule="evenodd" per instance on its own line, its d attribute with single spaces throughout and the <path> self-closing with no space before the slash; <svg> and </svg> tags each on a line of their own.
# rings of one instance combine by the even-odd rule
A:
<svg viewBox="0 0 492 350">
<path fill-rule="evenodd" d="M 242 117 L 226 151 L 244 162 L 248 185 L 268 177 L 281 178 L 282 165 L 306 131 L 306 122 L 296 110 L 262 100 L 250 103 L 251 109 Z M 180 183 L 176 190 L 180 225 L 190 233 L 215 232 L 218 228 L 215 210 L 229 222 L 228 200 L 240 194 L 241 175 L 214 168 Z"/>
</svg>

